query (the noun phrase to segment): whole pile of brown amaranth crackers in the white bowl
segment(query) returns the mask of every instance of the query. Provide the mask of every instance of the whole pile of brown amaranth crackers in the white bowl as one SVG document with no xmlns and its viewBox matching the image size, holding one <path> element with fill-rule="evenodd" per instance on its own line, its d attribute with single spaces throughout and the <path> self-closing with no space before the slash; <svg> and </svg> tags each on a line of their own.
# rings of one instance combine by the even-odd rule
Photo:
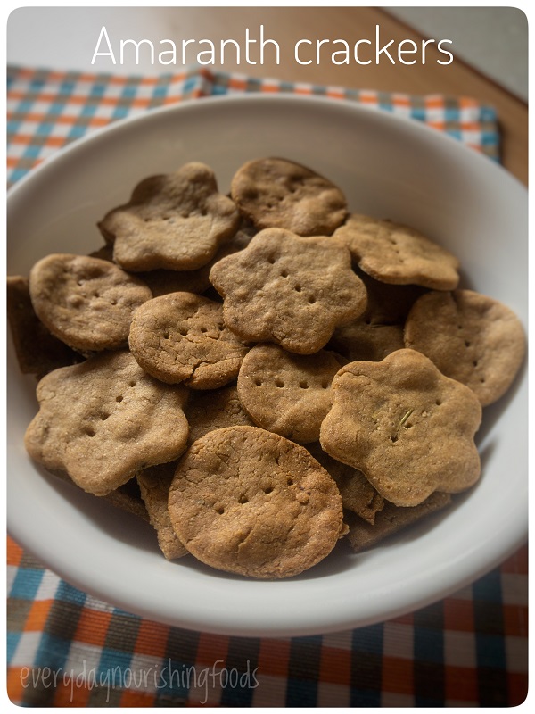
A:
<svg viewBox="0 0 535 714">
<path fill-rule="evenodd" d="M 150 520 L 169 560 L 294 576 L 479 479 L 474 435 L 523 327 L 431 238 L 278 158 L 229 195 L 200 162 L 149 177 L 98 228 L 95 253 L 8 278 L 38 378 L 25 444 Z"/>
</svg>

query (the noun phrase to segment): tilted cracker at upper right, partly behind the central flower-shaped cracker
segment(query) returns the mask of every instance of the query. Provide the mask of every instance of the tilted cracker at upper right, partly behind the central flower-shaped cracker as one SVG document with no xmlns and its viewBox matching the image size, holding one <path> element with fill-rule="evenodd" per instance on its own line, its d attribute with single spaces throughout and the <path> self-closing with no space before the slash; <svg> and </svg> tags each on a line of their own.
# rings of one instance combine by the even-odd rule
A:
<svg viewBox="0 0 535 714">
<path fill-rule="evenodd" d="M 334 236 L 350 249 L 358 267 L 385 283 L 453 290 L 459 281 L 455 255 L 414 228 L 351 213 Z"/>
</svg>

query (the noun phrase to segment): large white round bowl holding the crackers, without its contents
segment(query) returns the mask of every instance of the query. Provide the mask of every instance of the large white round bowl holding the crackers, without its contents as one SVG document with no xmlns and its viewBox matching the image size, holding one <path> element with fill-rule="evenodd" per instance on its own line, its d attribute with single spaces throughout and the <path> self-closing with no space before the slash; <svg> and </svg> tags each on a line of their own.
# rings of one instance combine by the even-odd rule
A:
<svg viewBox="0 0 535 714">
<path fill-rule="evenodd" d="M 147 112 L 32 171 L 8 197 L 8 270 L 102 245 L 95 224 L 139 179 L 207 162 L 226 191 L 246 160 L 283 156 L 333 179 L 350 209 L 406 222 L 447 246 L 462 286 L 526 324 L 527 192 L 490 159 L 413 120 L 295 96 L 229 96 Z M 223 634 L 304 635 L 368 625 L 436 601 L 514 551 L 527 532 L 527 377 L 484 411 L 481 481 L 443 512 L 370 552 L 340 547 L 300 577 L 259 582 L 168 562 L 152 528 L 58 482 L 23 434 L 35 380 L 8 343 L 8 527 L 73 585 L 151 619 Z"/>
</svg>

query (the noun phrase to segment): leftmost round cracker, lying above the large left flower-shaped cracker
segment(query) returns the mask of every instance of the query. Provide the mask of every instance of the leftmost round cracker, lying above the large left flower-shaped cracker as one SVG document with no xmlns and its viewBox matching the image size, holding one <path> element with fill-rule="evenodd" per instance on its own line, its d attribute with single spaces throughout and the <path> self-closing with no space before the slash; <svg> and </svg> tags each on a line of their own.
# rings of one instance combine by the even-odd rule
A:
<svg viewBox="0 0 535 714">
<path fill-rule="evenodd" d="M 136 308 L 152 298 L 139 278 L 99 258 L 53 253 L 29 273 L 29 294 L 39 320 L 82 353 L 128 345 Z"/>
</svg>

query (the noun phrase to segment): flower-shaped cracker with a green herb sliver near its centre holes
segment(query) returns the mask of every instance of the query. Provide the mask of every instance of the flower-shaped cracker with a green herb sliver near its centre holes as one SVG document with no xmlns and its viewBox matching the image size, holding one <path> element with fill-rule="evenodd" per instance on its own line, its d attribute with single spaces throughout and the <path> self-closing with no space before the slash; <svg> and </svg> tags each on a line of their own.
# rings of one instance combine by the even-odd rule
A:
<svg viewBox="0 0 535 714">
<path fill-rule="evenodd" d="M 320 442 L 360 469 L 387 501 L 416 506 L 435 491 L 458 493 L 480 477 L 473 436 L 481 404 L 432 361 L 402 349 L 381 362 L 350 362 L 333 379 L 333 409 Z"/>
</svg>

